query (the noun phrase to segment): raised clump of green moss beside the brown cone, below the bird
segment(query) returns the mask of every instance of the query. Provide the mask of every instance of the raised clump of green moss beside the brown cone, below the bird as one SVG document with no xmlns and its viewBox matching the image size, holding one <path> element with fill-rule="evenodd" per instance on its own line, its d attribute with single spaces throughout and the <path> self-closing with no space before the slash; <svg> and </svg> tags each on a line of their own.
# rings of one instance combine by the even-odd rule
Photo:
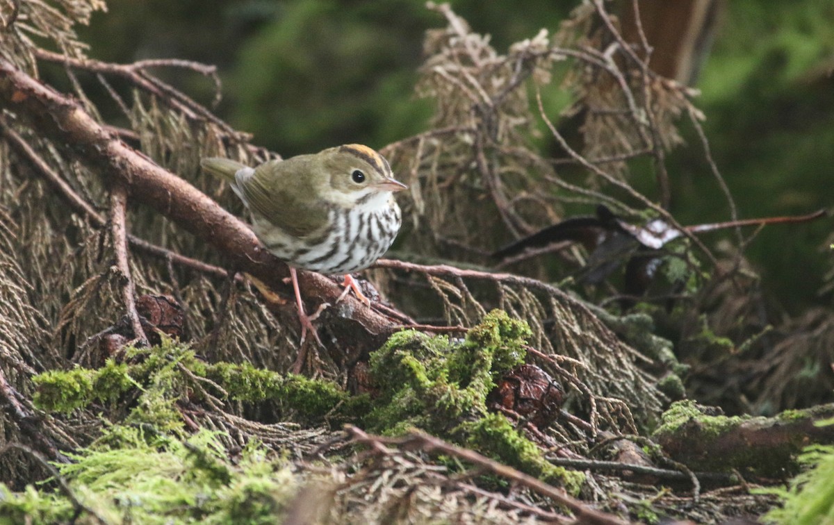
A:
<svg viewBox="0 0 834 525">
<path fill-rule="evenodd" d="M 370 357 L 379 396 L 365 423 L 385 435 L 422 428 L 575 493 L 585 481 L 581 473 L 551 465 L 507 418 L 487 412 L 496 379 L 524 363 L 529 337 L 526 323 L 500 310 L 487 314 L 463 342 L 394 334 Z"/>
</svg>

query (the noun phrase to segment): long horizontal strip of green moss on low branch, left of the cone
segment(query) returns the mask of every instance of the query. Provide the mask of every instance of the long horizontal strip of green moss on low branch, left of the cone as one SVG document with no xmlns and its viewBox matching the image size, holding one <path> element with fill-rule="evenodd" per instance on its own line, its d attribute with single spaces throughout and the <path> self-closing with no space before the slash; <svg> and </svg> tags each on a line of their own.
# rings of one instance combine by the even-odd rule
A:
<svg viewBox="0 0 834 525">
<path fill-rule="evenodd" d="M 129 349 L 128 360 L 132 364 L 110 359 L 98 369 L 35 376 L 35 403 L 44 410 L 69 413 L 97 401 L 117 403 L 124 398 L 131 403 L 125 407 L 127 423 L 151 423 L 162 430 L 181 428 L 177 403 L 202 401 L 203 392 L 247 403 L 274 402 L 287 417 L 304 423 L 318 421 L 341 405 L 367 412 L 367 398 L 346 403 L 349 396 L 332 382 L 282 375 L 249 363 L 204 363 L 187 346 L 171 340 L 155 348 Z M 138 390 L 138 396 L 124 396 L 131 390 Z"/>
</svg>

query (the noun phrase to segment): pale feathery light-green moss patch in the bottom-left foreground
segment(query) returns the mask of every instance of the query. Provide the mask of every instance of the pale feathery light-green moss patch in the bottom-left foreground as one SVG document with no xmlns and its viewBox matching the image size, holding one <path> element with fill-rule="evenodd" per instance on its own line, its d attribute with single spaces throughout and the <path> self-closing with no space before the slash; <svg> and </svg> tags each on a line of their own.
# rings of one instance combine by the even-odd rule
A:
<svg viewBox="0 0 834 525">
<path fill-rule="evenodd" d="M 111 428 L 91 447 L 57 468 L 69 487 L 106 522 L 279 522 L 297 480 L 279 459 L 250 443 L 229 458 L 220 433 L 188 440 L 140 428 Z M 8 522 L 71 522 L 63 493 L 0 485 L 0 516 Z M 82 513 L 80 522 L 91 517 Z"/>
</svg>

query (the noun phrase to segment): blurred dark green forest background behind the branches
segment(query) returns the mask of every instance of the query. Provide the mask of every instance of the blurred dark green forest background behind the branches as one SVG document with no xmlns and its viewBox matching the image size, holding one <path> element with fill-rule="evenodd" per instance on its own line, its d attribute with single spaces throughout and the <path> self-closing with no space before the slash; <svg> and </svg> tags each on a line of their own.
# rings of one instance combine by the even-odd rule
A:
<svg viewBox="0 0 834 525">
<path fill-rule="evenodd" d="M 505 52 L 540 28 L 554 32 L 580 2 L 450 3 Z M 90 56 L 216 64 L 223 80 L 216 111 L 284 157 L 339 143 L 382 148 L 428 128 L 431 102 L 415 97 L 414 82 L 425 31 L 445 20 L 423 2 L 113 0 L 108 8 L 82 30 Z M 701 91 L 696 103 L 711 154 L 741 218 L 831 207 L 834 2 L 658 0 L 641 2 L 641 10 L 652 22 L 645 29 L 656 47 L 653 66 Z M 681 49 L 684 40 L 689 47 Z M 206 78 L 170 68 L 159 74 L 211 105 Z M 552 115 L 570 103 L 559 75 L 557 68 L 545 92 Z M 681 134 L 686 143 L 668 158 L 671 212 L 683 224 L 728 220 L 695 130 L 683 123 Z M 543 151 L 554 148 L 550 133 L 541 141 Z M 651 167 L 631 169 L 635 187 L 656 198 Z M 828 219 L 776 225 L 747 248 L 766 293 L 786 313 L 831 304 L 821 291 L 831 271 L 830 234 Z M 711 235 L 713 244 L 721 234 Z"/>
</svg>

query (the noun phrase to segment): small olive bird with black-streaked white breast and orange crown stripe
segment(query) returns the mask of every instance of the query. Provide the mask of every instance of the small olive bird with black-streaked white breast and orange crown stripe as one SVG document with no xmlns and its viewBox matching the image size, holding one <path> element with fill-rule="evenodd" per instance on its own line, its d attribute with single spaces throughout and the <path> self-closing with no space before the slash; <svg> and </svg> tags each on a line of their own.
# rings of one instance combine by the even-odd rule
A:
<svg viewBox="0 0 834 525">
<path fill-rule="evenodd" d="M 394 243 L 402 223 L 394 192 L 408 188 L 382 155 L 346 144 L 257 168 L 228 158 L 204 158 L 201 165 L 229 180 L 252 213 L 255 235 L 289 265 L 302 343 L 308 329 L 321 340 L 304 312 L 296 268 L 344 274 L 345 293 L 353 288 L 370 304 L 350 273 L 368 268 Z"/>
</svg>

